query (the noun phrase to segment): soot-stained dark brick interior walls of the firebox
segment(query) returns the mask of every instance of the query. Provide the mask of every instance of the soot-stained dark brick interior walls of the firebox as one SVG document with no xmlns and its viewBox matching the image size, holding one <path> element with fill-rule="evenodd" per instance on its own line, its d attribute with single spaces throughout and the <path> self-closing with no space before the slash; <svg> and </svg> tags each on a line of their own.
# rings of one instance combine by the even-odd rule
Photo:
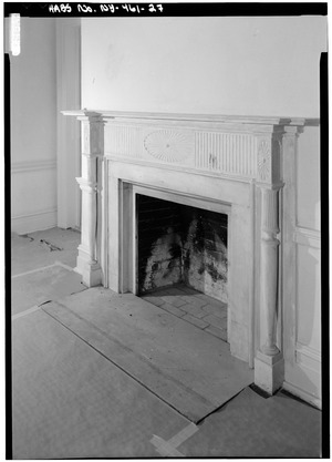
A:
<svg viewBox="0 0 332 462">
<path fill-rule="evenodd" d="M 185 284 L 227 301 L 227 215 L 137 195 L 138 294 Z"/>
</svg>

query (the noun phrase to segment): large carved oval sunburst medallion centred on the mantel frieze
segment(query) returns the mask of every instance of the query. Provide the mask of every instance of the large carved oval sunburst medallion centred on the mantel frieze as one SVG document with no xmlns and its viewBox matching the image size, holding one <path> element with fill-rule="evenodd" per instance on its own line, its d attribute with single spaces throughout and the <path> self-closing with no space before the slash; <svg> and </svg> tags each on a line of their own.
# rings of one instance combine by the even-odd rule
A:
<svg viewBox="0 0 332 462">
<path fill-rule="evenodd" d="M 144 147 L 153 157 L 164 162 L 180 162 L 194 152 L 190 134 L 173 130 L 158 130 L 144 140 Z"/>
</svg>

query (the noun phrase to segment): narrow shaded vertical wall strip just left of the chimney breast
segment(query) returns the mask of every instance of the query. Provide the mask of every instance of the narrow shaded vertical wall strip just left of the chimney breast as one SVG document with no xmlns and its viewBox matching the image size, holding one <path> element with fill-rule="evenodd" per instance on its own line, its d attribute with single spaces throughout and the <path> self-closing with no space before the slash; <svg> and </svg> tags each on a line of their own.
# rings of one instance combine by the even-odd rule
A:
<svg viewBox="0 0 332 462">
<path fill-rule="evenodd" d="M 81 107 L 81 19 L 56 18 L 58 226 L 81 225 L 81 124 L 64 110 Z"/>
</svg>

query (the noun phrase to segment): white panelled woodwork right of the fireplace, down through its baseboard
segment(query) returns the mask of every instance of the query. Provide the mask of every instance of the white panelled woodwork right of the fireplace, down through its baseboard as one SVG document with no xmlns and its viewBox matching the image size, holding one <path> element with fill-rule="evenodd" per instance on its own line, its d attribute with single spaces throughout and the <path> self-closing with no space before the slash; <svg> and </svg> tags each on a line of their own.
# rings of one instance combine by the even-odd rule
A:
<svg viewBox="0 0 332 462">
<path fill-rule="evenodd" d="M 321 407 L 319 127 L 289 127 L 284 145 L 283 387 Z"/>
</svg>

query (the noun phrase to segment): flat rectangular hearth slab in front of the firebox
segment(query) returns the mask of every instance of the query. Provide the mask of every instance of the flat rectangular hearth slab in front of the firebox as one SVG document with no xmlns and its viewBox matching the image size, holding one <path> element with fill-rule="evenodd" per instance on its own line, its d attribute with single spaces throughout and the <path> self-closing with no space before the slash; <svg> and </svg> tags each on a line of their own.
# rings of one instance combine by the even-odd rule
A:
<svg viewBox="0 0 332 462">
<path fill-rule="evenodd" d="M 195 423 L 253 381 L 228 343 L 132 294 L 96 287 L 42 309 Z"/>
</svg>

